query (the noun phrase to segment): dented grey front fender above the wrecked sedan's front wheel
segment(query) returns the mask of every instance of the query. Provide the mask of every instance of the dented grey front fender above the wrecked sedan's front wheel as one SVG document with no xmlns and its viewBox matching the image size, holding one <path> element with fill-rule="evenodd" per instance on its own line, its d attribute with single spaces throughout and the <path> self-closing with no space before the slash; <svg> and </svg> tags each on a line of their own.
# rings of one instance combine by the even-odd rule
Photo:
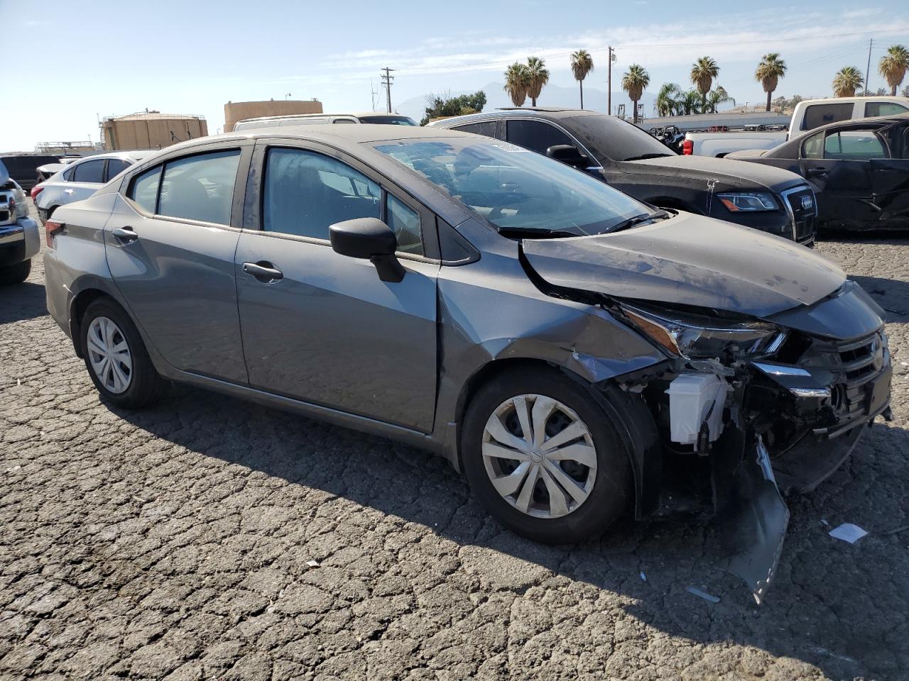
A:
<svg viewBox="0 0 909 681">
<path fill-rule="evenodd" d="M 489 362 L 544 360 L 597 383 L 665 360 L 604 309 L 537 290 L 518 260 L 517 242 L 473 220 L 458 231 L 483 257 L 439 274 L 437 437 L 444 439 L 447 425 L 458 420 L 463 386 Z"/>
</svg>

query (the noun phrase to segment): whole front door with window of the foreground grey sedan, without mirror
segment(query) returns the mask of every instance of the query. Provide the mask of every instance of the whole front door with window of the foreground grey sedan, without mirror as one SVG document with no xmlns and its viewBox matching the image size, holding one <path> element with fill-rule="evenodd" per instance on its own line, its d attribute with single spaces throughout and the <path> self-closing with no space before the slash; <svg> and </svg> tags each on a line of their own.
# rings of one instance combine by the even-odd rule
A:
<svg viewBox="0 0 909 681">
<path fill-rule="evenodd" d="M 429 431 L 439 264 L 422 257 L 425 209 L 339 153 L 263 145 L 260 158 L 258 229 L 245 230 L 236 251 L 250 385 Z M 395 230 L 402 281 L 381 281 L 371 262 L 332 250 L 329 225 L 362 217 Z"/>
</svg>

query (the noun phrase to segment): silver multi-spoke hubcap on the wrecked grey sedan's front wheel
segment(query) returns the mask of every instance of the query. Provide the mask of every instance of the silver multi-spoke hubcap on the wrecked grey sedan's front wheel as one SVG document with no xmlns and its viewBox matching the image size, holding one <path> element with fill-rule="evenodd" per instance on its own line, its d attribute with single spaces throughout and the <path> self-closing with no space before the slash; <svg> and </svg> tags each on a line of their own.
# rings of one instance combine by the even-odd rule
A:
<svg viewBox="0 0 909 681">
<path fill-rule="evenodd" d="M 596 480 L 590 430 L 544 395 L 519 395 L 494 410 L 483 431 L 483 463 L 502 498 L 535 518 L 571 513 Z"/>
</svg>

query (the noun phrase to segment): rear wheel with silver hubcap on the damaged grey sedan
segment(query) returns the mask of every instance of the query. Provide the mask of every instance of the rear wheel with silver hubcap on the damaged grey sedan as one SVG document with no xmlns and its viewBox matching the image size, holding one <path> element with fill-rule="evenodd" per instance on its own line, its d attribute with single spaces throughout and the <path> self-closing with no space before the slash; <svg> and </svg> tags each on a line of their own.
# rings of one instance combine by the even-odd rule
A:
<svg viewBox="0 0 909 681">
<path fill-rule="evenodd" d="M 164 381 L 135 324 L 119 305 L 108 298 L 92 302 L 79 331 L 88 375 L 105 400 L 138 409 L 158 398 Z"/>
</svg>

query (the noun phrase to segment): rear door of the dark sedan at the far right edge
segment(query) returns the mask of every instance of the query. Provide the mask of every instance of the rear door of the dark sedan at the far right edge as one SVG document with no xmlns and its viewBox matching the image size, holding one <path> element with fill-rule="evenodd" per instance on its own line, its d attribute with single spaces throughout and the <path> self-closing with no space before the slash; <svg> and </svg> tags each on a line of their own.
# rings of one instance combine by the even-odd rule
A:
<svg viewBox="0 0 909 681">
<path fill-rule="evenodd" d="M 872 127 L 809 134 L 802 143 L 802 176 L 817 185 L 818 220 L 867 226 L 878 219 L 871 182 L 871 160 L 886 158 L 883 138 Z"/>
</svg>

